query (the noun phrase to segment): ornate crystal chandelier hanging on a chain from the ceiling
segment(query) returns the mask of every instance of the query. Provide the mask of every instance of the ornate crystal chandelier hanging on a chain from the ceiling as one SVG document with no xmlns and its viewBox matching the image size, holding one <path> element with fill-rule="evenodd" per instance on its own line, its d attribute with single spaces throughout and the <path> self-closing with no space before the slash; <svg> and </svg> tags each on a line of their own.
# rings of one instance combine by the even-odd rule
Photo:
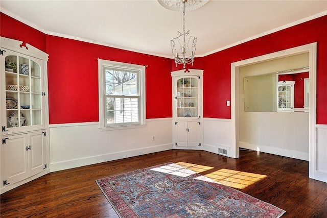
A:
<svg viewBox="0 0 327 218">
<path fill-rule="evenodd" d="M 193 66 L 197 38 L 190 36 L 190 31 L 185 32 L 185 4 L 188 0 L 181 1 L 183 2 L 183 32 L 178 31 L 178 36 L 170 40 L 170 44 L 176 67 L 177 64 L 183 64 L 183 68 L 185 68 L 186 64 Z"/>
</svg>

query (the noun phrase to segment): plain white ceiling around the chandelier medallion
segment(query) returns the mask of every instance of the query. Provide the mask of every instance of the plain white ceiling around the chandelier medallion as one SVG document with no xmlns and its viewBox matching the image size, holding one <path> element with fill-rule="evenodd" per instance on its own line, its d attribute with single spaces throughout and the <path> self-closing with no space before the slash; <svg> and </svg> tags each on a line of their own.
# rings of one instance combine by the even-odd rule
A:
<svg viewBox="0 0 327 218">
<path fill-rule="evenodd" d="M 157 0 L 1 0 L 0 7 L 49 35 L 162 57 L 172 57 L 170 40 L 182 31 L 182 13 Z M 200 57 L 326 14 L 325 0 L 209 0 L 185 13 L 185 30 L 198 38 Z"/>
</svg>

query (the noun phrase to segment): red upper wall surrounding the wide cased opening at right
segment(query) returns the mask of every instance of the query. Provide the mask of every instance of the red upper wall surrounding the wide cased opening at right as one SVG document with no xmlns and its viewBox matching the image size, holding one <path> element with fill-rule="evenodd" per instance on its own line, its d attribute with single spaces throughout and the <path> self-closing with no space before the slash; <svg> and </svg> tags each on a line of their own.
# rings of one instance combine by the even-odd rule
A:
<svg viewBox="0 0 327 218">
<path fill-rule="evenodd" d="M 204 117 L 230 118 L 231 63 L 317 42 L 317 124 L 327 124 L 327 16 L 204 57 Z"/>
</svg>

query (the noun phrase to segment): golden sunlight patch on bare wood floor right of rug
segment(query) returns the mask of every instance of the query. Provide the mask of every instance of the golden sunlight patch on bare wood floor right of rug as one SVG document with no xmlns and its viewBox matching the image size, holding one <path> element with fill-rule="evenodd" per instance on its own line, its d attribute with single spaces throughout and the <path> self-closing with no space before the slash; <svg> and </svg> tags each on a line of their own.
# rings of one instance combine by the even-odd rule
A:
<svg viewBox="0 0 327 218">
<path fill-rule="evenodd" d="M 223 185 L 239 189 L 246 188 L 247 186 L 252 185 L 253 183 L 258 182 L 267 177 L 266 175 L 233 171 L 231 169 L 224 168 L 206 174 L 205 176 Z"/>
</svg>

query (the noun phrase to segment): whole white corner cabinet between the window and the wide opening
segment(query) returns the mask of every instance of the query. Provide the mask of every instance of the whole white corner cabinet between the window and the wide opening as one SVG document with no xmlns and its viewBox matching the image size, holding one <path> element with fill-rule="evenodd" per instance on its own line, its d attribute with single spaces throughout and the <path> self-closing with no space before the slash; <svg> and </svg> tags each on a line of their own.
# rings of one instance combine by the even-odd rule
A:
<svg viewBox="0 0 327 218">
<path fill-rule="evenodd" d="M 173 87 L 173 146 L 202 150 L 203 70 L 171 72 Z"/>
</svg>

